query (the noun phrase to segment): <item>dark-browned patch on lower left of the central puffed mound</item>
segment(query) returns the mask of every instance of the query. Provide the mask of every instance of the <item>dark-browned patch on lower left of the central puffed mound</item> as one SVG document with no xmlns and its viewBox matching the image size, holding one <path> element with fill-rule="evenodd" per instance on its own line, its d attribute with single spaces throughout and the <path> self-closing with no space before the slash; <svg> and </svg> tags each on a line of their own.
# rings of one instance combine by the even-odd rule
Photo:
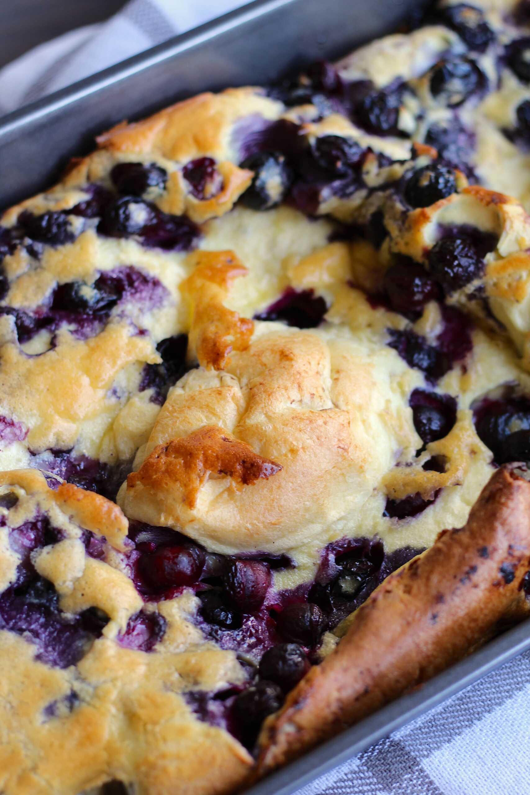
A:
<svg viewBox="0 0 530 795">
<path fill-rule="evenodd" d="M 141 465 L 127 476 L 127 487 L 137 483 L 156 492 L 180 486 L 188 508 L 195 508 L 199 488 L 211 475 L 228 475 L 235 487 L 251 486 L 282 469 L 279 463 L 259 456 L 250 444 L 236 439 L 216 425 L 190 433 L 184 439 L 159 444 Z M 119 509 L 118 509 L 119 510 Z"/>
</svg>

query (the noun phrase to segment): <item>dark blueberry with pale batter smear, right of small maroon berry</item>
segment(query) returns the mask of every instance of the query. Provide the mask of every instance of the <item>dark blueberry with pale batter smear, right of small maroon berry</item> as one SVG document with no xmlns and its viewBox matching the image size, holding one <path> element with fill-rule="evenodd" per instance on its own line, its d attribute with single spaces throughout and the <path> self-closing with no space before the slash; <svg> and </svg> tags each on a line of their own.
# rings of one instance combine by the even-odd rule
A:
<svg viewBox="0 0 530 795">
<path fill-rule="evenodd" d="M 240 165 L 254 172 L 252 182 L 239 198 L 242 204 L 251 210 L 270 210 L 284 200 L 292 182 L 292 172 L 283 154 L 258 152 L 246 157 Z"/>
</svg>

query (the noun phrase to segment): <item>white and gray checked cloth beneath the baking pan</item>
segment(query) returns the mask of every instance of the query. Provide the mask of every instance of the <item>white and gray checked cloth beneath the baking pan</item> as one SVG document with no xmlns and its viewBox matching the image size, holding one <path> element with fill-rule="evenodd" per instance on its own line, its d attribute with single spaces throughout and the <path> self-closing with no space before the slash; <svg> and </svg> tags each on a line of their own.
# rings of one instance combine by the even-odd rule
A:
<svg viewBox="0 0 530 795">
<path fill-rule="evenodd" d="M 109 21 L 67 33 L 3 68 L 0 114 L 242 5 L 242 0 L 131 0 Z M 505 793 L 530 793 L 530 653 L 297 795 Z"/>
</svg>

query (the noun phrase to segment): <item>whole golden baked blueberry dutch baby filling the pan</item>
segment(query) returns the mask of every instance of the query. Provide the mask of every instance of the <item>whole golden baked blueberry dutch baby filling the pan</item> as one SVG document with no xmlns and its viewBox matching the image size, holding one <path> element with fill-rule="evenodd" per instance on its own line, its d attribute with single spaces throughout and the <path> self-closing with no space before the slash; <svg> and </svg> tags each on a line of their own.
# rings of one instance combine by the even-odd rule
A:
<svg viewBox="0 0 530 795">
<path fill-rule="evenodd" d="M 2 215 L 2 795 L 229 795 L 528 615 L 527 6 Z"/>
</svg>

